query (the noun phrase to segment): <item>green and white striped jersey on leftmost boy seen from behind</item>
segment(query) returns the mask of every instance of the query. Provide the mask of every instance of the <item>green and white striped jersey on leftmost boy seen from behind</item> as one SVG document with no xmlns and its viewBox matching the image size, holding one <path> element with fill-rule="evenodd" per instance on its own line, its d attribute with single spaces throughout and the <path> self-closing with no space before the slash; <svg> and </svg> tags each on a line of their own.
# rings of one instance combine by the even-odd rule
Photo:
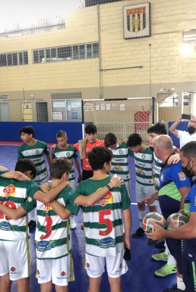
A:
<svg viewBox="0 0 196 292">
<path fill-rule="evenodd" d="M 0 171 L 0 177 L 6 171 Z M 0 204 L 16 209 L 39 191 L 38 185 L 32 180 L 19 181 L 0 178 Z M 29 238 L 28 215 L 13 220 L 0 212 L 0 240 L 20 241 Z"/>
</svg>

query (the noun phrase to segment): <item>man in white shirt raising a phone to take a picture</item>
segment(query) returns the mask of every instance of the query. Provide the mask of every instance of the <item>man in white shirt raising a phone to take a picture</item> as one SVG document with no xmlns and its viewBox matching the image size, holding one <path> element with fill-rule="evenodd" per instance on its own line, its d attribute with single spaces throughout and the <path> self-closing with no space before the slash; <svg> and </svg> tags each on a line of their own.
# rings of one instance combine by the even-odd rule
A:
<svg viewBox="0 0 196 292">
<path fill-rule="evenodd" d="M 176 130 L 176 127 L 182 121 L 182 116 L 178 117 L 173 125 L 169 128 L 169 131 L 180 139 L 180 149 L 190 141 L 196 141 L 196 117 L 191 114 L 191 120 L 188 123 L 188 129 L 186 131 Z"/>
</svg>

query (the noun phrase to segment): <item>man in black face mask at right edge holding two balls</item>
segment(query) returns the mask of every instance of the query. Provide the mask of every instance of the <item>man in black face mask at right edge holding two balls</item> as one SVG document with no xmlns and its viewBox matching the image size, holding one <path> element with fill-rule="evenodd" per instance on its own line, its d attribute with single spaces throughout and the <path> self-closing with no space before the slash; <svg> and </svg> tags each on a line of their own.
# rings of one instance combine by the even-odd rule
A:
<svg viewBox="0 0 196 292">
<path fill-rule="evenodd" d="M 186 176 L 196 175 L 196 141 L 187 143 L 180 150 L 182 170 Z M 150 239 L 175 238 L 184 239 L 182 254 L 183 281 L 187 292 L 195 292 L 196 285 L 196 184 L 194 184 L 184 199 L 184 213 L 190 218 L 181 227 L 165 230 L 154 224 L 155 231 L 146 234 Z M 173 291 L 173 290 L 171 290 Z"/>
</svg>

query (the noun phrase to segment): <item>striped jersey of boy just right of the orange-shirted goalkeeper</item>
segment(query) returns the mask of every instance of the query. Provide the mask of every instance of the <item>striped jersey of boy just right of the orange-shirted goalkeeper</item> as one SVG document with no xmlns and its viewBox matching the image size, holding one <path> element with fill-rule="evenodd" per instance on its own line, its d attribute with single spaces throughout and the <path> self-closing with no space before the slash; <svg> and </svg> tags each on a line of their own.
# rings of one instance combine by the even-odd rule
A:
<svg viewBox="0 0 196 292">
<path fill-rule="evenodd" d="M 127 147 L 125 142 L 122 142 L 120 146 L 116 149 L 111 149 L 113 153 L 111 173 L 117 174 L 121 177 L 122 180 L 128 181 L 130 180 L 129 175 L 129 166 L 128 166 L 128 155 L 130 154 L 130 150 Z"/>
</svg>

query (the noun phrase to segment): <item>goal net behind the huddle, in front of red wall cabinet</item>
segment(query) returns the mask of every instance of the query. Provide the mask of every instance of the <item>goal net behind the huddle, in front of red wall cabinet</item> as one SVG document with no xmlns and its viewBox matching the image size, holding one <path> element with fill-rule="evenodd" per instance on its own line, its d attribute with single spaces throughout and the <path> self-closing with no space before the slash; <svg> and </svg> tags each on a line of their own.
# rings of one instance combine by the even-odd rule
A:
<svg viewBox="0 0 196 292">
<path fill-rule="evenodd" d="M 88 123 L 95 124 L 99 139 L 102 140 L 110 132 L 119 140 L 138 133 L 146 143 L 147 129 L 154 121 L 155 98 L 83 100 L 84 127 Z"/>
</svg>

